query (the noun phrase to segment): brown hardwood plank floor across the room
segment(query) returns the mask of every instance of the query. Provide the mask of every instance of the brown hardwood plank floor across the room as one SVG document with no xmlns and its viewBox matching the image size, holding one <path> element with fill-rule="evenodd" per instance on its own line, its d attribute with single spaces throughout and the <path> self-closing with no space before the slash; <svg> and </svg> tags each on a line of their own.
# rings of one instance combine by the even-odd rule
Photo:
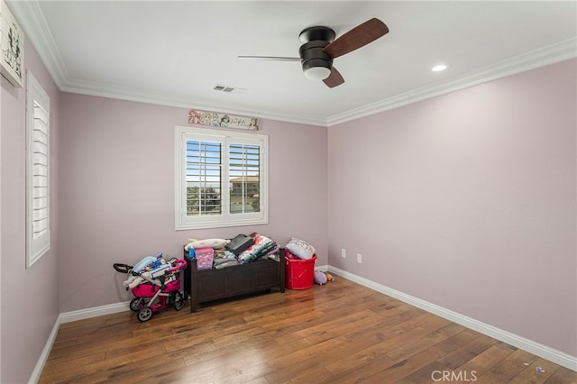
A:
<svg viewBox="0 0 577 384">
<path fill-rule="evenodd" d="M 40 382 L 577 382 L 572 370 L 340 277 L 188 310 L 63 324 Z"/>
</svg>

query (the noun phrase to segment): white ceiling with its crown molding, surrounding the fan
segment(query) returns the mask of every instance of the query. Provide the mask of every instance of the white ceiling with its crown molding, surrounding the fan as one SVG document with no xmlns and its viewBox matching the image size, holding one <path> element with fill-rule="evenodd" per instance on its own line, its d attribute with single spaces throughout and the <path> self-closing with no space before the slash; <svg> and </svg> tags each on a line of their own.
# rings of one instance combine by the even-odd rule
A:
<svg viewBox="0 0 577 384">
<path fill-rule="evenodd" d="M 577 56 L 575 1 L 6 3 L 63 91 L 325 126 Z M 339 87 L 237 59 L 298 57 L 304 28 L 371 17 L 390 32 L 334 59 Z"/>
</svg>

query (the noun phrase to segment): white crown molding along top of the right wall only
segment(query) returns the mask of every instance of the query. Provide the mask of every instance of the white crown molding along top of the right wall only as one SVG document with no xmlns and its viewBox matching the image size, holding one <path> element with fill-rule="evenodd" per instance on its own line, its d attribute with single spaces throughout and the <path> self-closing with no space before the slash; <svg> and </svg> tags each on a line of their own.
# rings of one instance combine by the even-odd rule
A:
<svg viewBox="0 0 577 384">
<path fill-rule="evenodd" d="M 409 105 L 427 98 L 441 96 L 466 87 L 477 86 L 498 78 L 505 78 L 530 69 L 545 67 L 577 57 L 577 37 L 561 41 L 539 50 L 524 53 L 517 57 L 499 61 L 480 70 L 469 72 L 459 78 L 453 78 L 426 87 L 419 87 L 397 96 L 388 97 L 376 103 L 364 105 L 342 114 L 327 118 L 327 126 L 350 122 L 371 114 Z"/>
</svg>

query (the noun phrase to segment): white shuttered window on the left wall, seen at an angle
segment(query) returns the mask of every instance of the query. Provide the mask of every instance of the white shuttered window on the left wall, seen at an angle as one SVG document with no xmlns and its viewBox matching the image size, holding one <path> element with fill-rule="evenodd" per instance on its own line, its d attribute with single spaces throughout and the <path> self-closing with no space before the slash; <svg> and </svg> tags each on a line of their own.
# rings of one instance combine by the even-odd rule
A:
<svg viewBox="0 0 577 384">
<path fill-rule="evenodd" d="M 50 249 L 50 98 L 28 71 L 26 86 L 26 268 Z"/>
</svg>

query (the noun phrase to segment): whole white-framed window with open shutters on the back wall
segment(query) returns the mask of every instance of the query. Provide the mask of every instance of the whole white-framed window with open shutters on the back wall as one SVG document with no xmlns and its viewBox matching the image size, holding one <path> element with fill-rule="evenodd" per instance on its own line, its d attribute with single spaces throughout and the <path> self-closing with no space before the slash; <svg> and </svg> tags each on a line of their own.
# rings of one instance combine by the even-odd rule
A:
<svg viewBox="0 0 577 384">
<path fill-rule="evenodd" d="M 176 127 L 176 229 L 268 223 L 268 136 Z"/>
</svg>

